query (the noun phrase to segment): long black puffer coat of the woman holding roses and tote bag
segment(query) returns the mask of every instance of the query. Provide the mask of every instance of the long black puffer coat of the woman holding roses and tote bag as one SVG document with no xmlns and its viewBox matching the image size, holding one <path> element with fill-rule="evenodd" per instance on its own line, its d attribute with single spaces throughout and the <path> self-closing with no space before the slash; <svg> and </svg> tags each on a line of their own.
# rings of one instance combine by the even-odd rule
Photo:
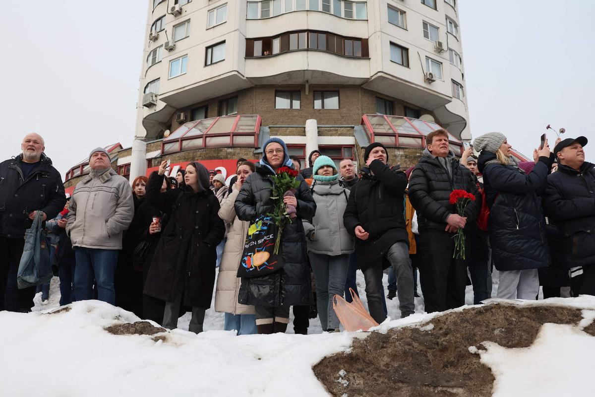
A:
<svg viewBox="0 0 595 397">
<path fill-rule="evenodd" d="M 256 172 L 244 181 L 234 207 L 242 221 L 255 220 L 273 210 L 271 187 L 268 177 L 273 171 L 265 165 L 256 165 Z M 311 296 L 310 270 L 306 253 L 306 236 L 302 219 L 316 213 L 316 203 L 303 178 L 297 189 L 297 218 L 283 229 L 283 261 L 281 270 L 267 276 L 242 279 L 238 302 L 243 305 L 279 307 L 283 305 L 309 305 Z"/>
</svg>

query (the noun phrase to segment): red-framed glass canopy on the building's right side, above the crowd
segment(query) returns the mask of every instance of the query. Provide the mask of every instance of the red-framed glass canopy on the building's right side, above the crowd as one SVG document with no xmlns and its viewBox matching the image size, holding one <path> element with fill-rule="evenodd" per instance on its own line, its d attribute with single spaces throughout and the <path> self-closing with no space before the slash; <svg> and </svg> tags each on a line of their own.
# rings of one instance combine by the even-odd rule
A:
<svg viewBox="0 0 595 397">
<path fill-rule="evenodd" d="M 399 148 L 425 148 L 425 136 L 441 129 L 431 121 L 403 116 L 364 114 L 362 124 L 370 142 Z M 463 143 L 449 133 L 450 148 L 456 155 L 462 154 Z"/>
</svg>

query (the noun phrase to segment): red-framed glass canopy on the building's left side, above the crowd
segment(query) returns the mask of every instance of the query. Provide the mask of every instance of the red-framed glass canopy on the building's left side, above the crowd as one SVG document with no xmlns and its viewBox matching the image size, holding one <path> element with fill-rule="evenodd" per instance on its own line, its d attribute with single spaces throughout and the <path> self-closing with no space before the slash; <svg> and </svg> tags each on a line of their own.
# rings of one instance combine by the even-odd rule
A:
<svg viewBox="0 0 595 397">
<path fill-rule="evenodd" d="M 258 145 L 261 117 L 232 115 L 190 121 L 180 126 L 162 142 L 162 153 L 214 146 Z"/>
</svg>

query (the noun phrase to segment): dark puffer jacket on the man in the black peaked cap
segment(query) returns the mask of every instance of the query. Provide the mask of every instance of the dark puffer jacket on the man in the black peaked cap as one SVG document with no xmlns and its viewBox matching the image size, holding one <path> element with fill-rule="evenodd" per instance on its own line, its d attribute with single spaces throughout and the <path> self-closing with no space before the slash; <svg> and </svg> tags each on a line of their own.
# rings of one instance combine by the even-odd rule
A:
<svg viewBox="0 0 595 397">
<path fill-rule="evenodd" d="M 580 171 L 558 165 L 547 177 L 543 208 L 558 227 L 568 267 L 595 264 L 595 165 L 584 162 Z"/>
</svg>

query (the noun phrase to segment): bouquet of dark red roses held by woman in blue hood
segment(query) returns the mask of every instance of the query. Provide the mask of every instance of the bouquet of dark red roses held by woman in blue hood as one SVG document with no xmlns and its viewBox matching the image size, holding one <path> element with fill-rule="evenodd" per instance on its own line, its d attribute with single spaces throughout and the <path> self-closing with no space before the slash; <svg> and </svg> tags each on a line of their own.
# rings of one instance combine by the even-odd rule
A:
<svg viewBox="0 0 595 397">
<path fill-rule="evenodd" d="M 274 205 L 273 212 L 270 212 L 268 216 L 273 218 L 279 229 L 273 251 L 275 255 L 279 252 L 283 227 L 297 218 L 296 208 L 293 207 L 293 205 L 286 205 L 283 202 L 285 196 L 295 196 L 295 193 L 297 193 L 296 188 L 299 187 L 301 182 L 296 180 L 296 176 L 297 171 L 292 170 L 292 168 L 289 167 L 281 167 L 277 170 L 275 175 L 270 176 L 273 181 L 273 195 L 271 196 L 271 199 L 273 200 Z"/>
</svg>

